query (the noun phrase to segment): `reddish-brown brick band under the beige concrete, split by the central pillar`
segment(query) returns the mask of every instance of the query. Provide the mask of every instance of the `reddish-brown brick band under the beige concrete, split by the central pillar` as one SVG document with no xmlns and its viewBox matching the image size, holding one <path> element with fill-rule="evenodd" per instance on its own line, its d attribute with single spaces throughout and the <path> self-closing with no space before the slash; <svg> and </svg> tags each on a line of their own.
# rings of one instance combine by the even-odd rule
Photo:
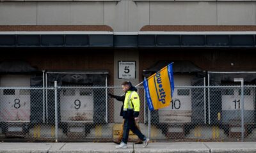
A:
<svg viewBox="0 0 256 153">
<path fill-rule="evenodd" d="M 0 25 L 0 31 L 113 31 L 108 25 Z M 140 31 L 256 31 L 256 25 L 145 25 Z"/>
</svg>

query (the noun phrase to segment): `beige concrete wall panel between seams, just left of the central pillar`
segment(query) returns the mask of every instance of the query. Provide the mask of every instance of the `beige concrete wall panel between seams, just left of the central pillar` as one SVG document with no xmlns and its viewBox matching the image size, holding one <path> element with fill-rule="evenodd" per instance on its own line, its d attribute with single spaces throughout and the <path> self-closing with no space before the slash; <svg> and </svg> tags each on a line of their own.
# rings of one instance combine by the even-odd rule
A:
<svg viewBox="0 0 256 153">
<path fill-rule="evenodd" d="M 102 2 L 42 2 L 37 6 L 38 25 L 103 25 Z"/>
</svg>

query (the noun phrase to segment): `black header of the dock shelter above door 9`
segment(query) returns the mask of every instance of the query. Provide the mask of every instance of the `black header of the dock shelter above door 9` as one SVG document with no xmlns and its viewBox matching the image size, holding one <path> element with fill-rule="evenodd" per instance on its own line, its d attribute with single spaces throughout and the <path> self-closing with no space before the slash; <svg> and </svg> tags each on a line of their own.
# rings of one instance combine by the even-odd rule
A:
<svg viewBox="0 0 256 153">
<path fill-rule="evenodd" d="M 109 72 L 102 70 L 87 71 L 47 71 L 47 80 L 49 83 L 57 81 L 58 84 L 83 84 L 83 85 L 104 85 L 106 84 L 106 76 Z"/>
</svg>

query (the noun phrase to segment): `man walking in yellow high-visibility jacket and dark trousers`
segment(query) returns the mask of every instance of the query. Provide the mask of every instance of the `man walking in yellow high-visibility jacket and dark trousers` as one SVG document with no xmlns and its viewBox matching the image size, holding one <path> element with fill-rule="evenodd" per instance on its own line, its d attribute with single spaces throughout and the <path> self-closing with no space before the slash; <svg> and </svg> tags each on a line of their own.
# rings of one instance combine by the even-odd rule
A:
<svg viewBox="0 0 256 153">
<path fill-rule="evenodd" d="M 124 134 L 122 142 L 120 143 L 120 145 L 116 146 L 116 149 L 127 148 L 130 129 L 135 135 L 140 138 L 140 140 L 143 140 L 143 147 L 147 147 L 149 142 L 149 139 L 141 133 L 135 123 L 139 120 L 138 116 L 140 113 L 140 98 L 136 91 L 131 91 L 131 87 L 131 82 L 124 82 L 122 84 L 122 89 L 124 92 L 126 92 L 123 109 Z"/>
</svg>

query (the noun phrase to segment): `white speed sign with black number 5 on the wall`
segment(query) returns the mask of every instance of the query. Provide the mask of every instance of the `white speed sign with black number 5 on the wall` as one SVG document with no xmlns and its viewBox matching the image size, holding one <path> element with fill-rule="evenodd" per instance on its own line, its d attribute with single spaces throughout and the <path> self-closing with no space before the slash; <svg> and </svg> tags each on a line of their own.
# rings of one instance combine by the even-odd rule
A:
<svg viewBox="0 0 256 153">
<path fill-rule="evenodd" d="M 118 78 L 136 78 L 136 62 L 118 61 Z"/>
</svg>

